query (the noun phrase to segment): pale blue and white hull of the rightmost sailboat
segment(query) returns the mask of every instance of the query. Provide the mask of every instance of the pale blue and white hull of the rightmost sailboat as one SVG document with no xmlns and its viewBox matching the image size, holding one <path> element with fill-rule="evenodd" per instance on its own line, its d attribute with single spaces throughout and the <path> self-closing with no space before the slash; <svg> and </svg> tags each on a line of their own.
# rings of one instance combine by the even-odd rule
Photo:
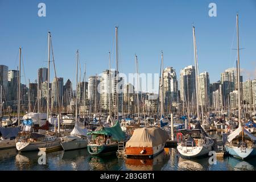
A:
<svg viewBox="0 0 256 182">
<path fill-rule="evenodd" d="M 245 151 L 243 152 L 241 151 L 240 147 L 225 145 L 225 148 L 229 155 L 232 155 L 234 158 L 238 158 L 242 160 L 256 155 L 255 148 L 245 148 Z"/>
</svg>

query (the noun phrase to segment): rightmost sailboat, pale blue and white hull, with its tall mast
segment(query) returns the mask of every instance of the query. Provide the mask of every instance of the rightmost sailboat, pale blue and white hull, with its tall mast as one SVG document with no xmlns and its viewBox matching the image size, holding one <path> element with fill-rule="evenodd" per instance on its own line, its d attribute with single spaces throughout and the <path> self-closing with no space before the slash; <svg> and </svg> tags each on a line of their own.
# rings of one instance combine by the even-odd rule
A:
<svg viewBox="0 0 256 182">
<path fill-rule="evenodd" d="M 225 143 L 225 149 L 228 154 L 239 158 L 246 159 L 249 156 L 256 155 L 256 137 L 249 133 L 241 123 L 241 92 L 240 92 L 240 48 L 238 32 L 238 14 L 237 14 L 237 82 L 238 82 L 238 122 L 239 127 L 228 136 Z"/>
</svg>

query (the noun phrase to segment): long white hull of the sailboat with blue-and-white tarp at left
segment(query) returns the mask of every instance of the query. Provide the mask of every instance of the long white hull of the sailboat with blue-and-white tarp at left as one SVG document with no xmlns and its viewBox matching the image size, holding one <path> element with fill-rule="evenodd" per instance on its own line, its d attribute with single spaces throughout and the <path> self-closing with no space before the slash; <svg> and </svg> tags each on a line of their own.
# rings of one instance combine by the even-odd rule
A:
<svg viewBox="0 0 256 182">
<path fill-rule="evenodd" d="M 27 142 L 16 142 L 16 148 L 18 151 L 38 151 L 39 148 L 42 147 L 52 147 L 52 146 L 57 146 L 60 144 L 60 139 L 57 138 L 56 140 L 53 141 L 48 141 L 48 142 L 32 142 L 32 143 L 27 143 Z"/>
</svg>

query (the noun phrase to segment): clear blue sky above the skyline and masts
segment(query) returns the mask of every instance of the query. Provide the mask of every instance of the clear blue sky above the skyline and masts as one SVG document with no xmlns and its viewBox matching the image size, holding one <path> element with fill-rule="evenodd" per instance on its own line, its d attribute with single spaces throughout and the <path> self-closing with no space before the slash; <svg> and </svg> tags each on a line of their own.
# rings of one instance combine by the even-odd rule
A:
<svg viewBox="0 0 256 182">
<path fill-rule="evenodd" d="M 46 3 L 46 17 L 38 16 L 38 3 Z M 217 17 L 208 16 L 209 3 L 217 5 Z M 57 76 L 75 81 L 75 52 L 80 50 L 87 78 L 108 68 L 108 51 L 114 64 L 114 29 L 119 30 L 119 70 L 134 73 L 134 53 L 139 72 L 159 73 L 160 51 L 164 67 L 180 69 L 193 64 L 192 23 L 196 27 L 200 72 L 210 82 L 234 67 L 236 13 L 240 14 L 242 75 L 256 78 L 256 1 L 37 1 L 0 0 L 0 64 L 16 69 L 18 48 L 23 48 L 25 76 L 37 79 L 47 67 L 47 32 L 51 31 Z M 23 73 L 22 73 L 23 75 Z M 51 70 L 51 81 L 53 70 Z M 24 75 L 22 82 L 25 83 Z"/>
</svg>

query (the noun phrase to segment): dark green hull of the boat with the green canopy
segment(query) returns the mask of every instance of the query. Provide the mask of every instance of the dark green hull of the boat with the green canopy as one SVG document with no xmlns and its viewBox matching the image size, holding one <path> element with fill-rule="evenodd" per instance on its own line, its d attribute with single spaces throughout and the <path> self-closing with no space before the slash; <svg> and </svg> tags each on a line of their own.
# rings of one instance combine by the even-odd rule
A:
<svg viewBox="0 0 256 182">
<path fill-rule="evenodd" d="M 87 150 L 92 155 L 106 155 L 106 154 L 115 154 L 118 150 L 118 144 L 110 145 L 97 145 L 97 144 L 88 144 Z"/>
</svg>

